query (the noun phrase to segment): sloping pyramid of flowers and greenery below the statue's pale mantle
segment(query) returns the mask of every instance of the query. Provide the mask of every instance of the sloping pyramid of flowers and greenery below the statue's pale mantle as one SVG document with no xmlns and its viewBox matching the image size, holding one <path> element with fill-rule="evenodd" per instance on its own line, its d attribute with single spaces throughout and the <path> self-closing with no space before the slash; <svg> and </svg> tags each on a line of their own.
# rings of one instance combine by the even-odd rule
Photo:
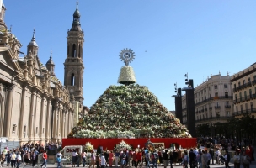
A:
<svg viewBox="0 0 256 168">
<path fill-rule="evenodd" d="M 72 133 L 81 138 L 191 138 L 179 119 L 137 84 L 110 86 Z"/>
</svg>

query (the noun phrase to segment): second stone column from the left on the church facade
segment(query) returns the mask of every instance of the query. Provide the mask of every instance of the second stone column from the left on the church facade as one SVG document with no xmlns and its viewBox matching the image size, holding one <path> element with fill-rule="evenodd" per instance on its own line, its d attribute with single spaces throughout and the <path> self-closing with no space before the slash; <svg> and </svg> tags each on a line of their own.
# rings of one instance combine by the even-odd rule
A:
<svg viewBox="0 0 256 168">
<path fill-rule="evenodd" d="M 21 142 L 24 133 L 24 125 L 23 125 L 23 120 L 24 120 L 24 100 L 25 100 L 25 94 L 26 94 L 26 86 L 22 88 L 22 98 L 21 98 L 21 108 L 20 108 L 20 116 L 19 116 L 19 141 Z"/>
</svg>

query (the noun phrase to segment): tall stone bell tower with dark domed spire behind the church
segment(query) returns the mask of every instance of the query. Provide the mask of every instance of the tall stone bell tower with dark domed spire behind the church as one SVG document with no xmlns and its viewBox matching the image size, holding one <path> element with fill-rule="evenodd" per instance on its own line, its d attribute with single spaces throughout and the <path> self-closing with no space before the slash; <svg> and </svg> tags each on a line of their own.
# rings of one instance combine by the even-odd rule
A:
<svg viewBox="0 0 256 168">
<path fill-rule="evenodd" d="M 77 102 L 80 112 L 83 108 L 83 30 L 80 24 L 80 13 L 73 14 L 72 28 L 67 32 L 67 58 L 64 62 L 64 85 L 70 92 L 73 101 Z"/>
</svg>

